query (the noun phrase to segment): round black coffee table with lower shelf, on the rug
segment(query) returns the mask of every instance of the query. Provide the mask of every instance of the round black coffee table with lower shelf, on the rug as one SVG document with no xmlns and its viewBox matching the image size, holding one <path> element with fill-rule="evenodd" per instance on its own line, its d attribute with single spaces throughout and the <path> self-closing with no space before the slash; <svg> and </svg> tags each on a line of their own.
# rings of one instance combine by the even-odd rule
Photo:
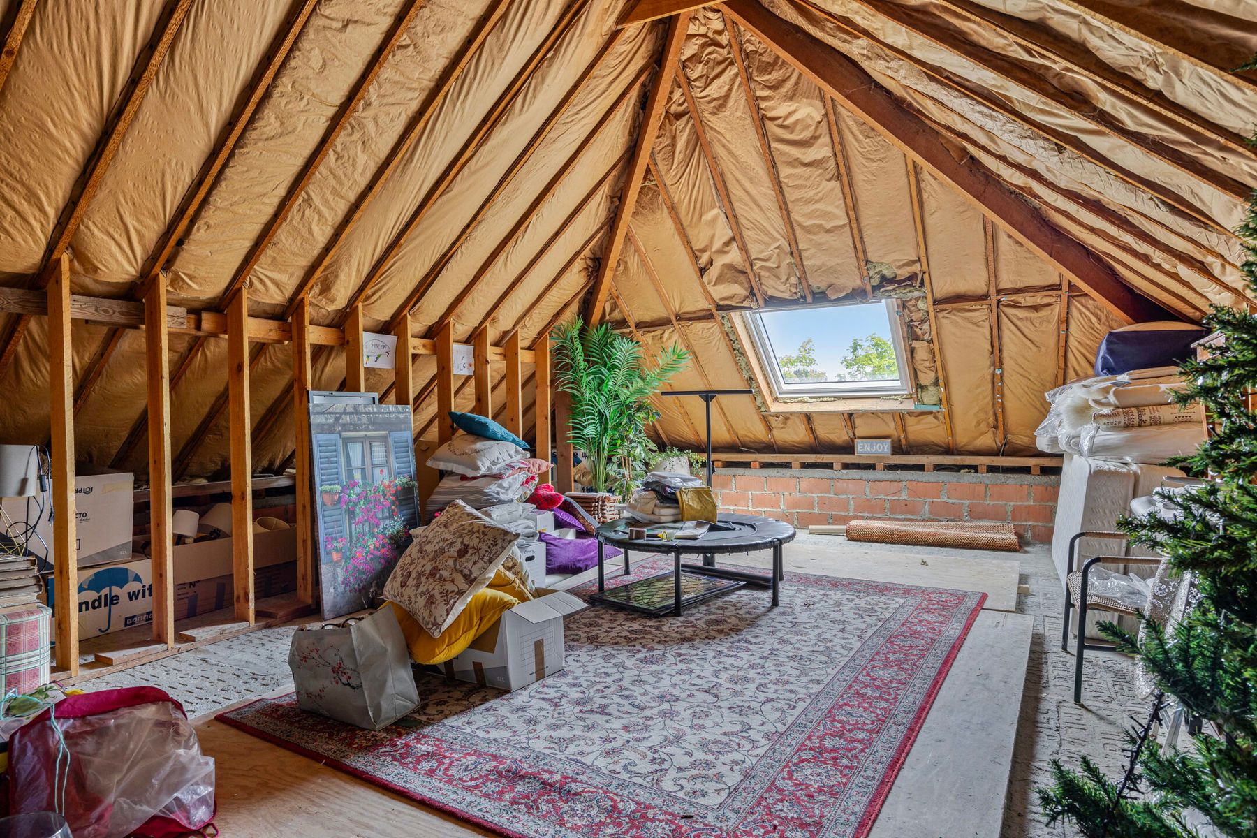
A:
<svg viewBox="0 0 1257 838">
<path fill-rule="evenodd" d="M 773 606 L 779 602 L 778 582 L 784 575 L 782 567 L 782 545 L 794 539 L 794 528 L 784 521 L 759 515 L 740 515 L 722 513 L 718 523 L 728 530 L 708 530 L 701 538 L 665 540 L 657 536 L 635 539 L 628 536 L 630 526 L 645 526 L 626 519 L 613 520 L 597 529 L 598 538 L 598 593 L 590 597 L 592 602 L 626 608 L 652 616 L 665 613 L 680 614 L 685 606 L 709 599 L 744 584 L 771 588 Z M 666 531 L 664 526 L 647 526 L 651 531 Z M 617 547 L 625 553 L 625 575 L 628 574 L 628 552 L 669 553 L 672 555 L 674 569 L 646 579 L 639 579 L 618 588 L 607 590 L 603 578 L 603 553 L 606 545 Z M 771 549 L 773 568 L 768 575 L 719 568 L 716 555 L 729 553 L 749 553 Z M 701 557 L 701 564 L 688 564 L 681 557 Z M 671 577 L 671 602 L 664 599 L 664 583 Z M 683 590 L 683 588 L 690 590 Z M 635 590 L 627 590 L 637 588 Z"/>
</svg>

